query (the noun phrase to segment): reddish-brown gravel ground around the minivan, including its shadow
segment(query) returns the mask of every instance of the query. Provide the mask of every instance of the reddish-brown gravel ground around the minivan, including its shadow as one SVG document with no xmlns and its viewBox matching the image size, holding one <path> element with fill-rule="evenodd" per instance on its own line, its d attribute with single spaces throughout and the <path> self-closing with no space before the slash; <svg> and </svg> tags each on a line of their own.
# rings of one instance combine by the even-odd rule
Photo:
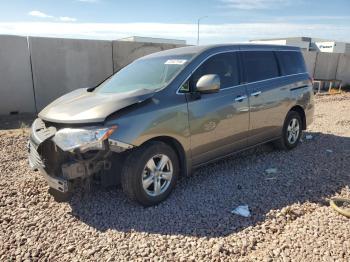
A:
<svg viewBox="0 0 350 262">
<path fill-rule="evenodd" d="M 99 187 L 55 202 L 28 168 L 25 131 L 0 131 L 0 261 L 349 261 L 350 220 L 326 199 L 350 197 L 350 94 L 316 106 L 297 149 L 207 165 L 151 208 Z M 241 204 L 251 217 L 230 213 Z"/>
</svg>

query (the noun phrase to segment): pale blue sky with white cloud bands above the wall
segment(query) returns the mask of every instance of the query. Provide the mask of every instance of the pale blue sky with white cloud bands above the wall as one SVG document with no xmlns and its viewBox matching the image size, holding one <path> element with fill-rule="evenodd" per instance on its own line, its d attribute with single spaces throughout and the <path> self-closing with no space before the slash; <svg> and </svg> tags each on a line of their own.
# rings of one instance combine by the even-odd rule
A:
<svg viewBox="0 0 350 262">
<path fill-rule="evenodd" d="M 194 44 L 311 36 L 350 42 L 349 0 L 0 1 L 0 34 L 88 39 L 140 35 Z"/>
</svg>

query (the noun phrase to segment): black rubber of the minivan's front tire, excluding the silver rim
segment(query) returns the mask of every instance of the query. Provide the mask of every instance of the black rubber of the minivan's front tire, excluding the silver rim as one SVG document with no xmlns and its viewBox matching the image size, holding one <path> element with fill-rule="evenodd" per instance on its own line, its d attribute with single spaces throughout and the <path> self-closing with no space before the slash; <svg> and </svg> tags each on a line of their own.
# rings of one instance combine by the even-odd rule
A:
<svg viewBox="0 0 350 262">
<path fill-rule="evenodd" d="M 153 156 L 158 154 L 164 154 L 168 156 L 173 165 L 173 176 L 167 190 L 159 196 L 150 196 L 143 189 L 142 185 L 142 173 L 147 161 L 149 161 Z M 130 174 L 125 174 L 128 176 L 127 179 L 132 179 L 132 187 L 136 200 L 144 206 L 156 205 L 163 200 L 165 200 L 173 188 L 176 185 L 176 181 L 179 175 L 179 160 L 177 154 L 174 150 L 163 142 L 152 142 L 139 149 L 137 154 L 137 162 L 134 163 L 134 168 Z"/>
</svg>

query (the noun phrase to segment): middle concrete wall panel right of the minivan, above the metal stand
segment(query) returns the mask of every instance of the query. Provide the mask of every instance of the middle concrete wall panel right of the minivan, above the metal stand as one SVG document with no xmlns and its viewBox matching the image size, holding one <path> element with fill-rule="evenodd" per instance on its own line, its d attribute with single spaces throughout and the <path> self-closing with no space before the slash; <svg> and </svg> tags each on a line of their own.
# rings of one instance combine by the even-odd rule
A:
<svg viewBox="0 0 350 262">
<path fill-rule="evenodd" d="M 335 79 L 339 54 L 317 53 L 315 79 Z"/>
</svg>

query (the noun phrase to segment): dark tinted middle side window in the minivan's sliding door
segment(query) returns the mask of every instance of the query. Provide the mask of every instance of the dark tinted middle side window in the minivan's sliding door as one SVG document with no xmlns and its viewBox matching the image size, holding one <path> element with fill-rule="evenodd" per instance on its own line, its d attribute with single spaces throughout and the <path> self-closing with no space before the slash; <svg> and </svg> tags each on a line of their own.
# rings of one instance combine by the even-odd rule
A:
<svg viewBox="0 0 350 262">
<path fill-rule="evenodd" d="M 245 51 L 242 57 L 248 83 L 279 76 L 277 60 L 272 51 Z"/>
</svg>

